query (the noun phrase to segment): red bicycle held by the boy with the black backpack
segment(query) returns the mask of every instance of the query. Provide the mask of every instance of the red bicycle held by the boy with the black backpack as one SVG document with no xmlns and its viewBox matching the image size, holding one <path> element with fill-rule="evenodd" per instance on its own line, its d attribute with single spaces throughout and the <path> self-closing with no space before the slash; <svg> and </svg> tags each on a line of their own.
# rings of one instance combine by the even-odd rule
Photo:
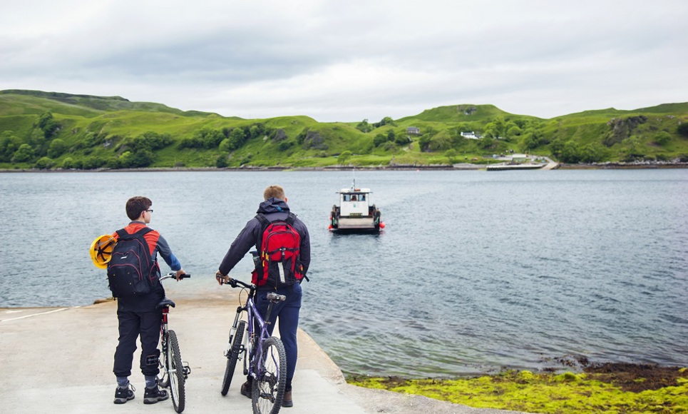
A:
<svg viewBox="0 0 688 414">
<path fill-rule="evenodd" d="M 179 276 L 180 279 L 190 277 L 191 275 L 188 273 Z M 160 281 L 169 278 L 176 278 L 176 273 L 168 273 L 165 276 L 160 276 Z M 184 410 L 186 400 L 184 384 L 191 373 L 191 368 L 189 368 L 188 363 L 182 361 L 177 334 L 174 330 L 168 328 L 170 306 L 174 308 L 175 303 L 168 298 L 164 298 L 162 302 L 158 303 L 158 308 L 163 309 L 163 320 L 162 323 L 160 323 L 160 338 L 162 338 L 163 349 L 160 355 L 160 374 L 158 374 L 158 383 L 162 388 L 170 388 L 172 405 L 176 412 L 181 413 Z"/>
</svg>

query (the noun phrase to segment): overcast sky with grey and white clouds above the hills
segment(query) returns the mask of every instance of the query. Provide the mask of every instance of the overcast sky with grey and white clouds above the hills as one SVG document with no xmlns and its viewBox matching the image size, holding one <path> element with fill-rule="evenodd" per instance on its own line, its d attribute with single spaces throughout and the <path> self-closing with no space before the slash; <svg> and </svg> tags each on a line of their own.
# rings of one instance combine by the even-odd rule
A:
<svg viewBox="0 0 688 414">
<path fill-rule="evenodd" d="M 1 89 L 321 122 L 636 109 L 688 101 L 688 1 L 4 1 Z"/>
</svg>

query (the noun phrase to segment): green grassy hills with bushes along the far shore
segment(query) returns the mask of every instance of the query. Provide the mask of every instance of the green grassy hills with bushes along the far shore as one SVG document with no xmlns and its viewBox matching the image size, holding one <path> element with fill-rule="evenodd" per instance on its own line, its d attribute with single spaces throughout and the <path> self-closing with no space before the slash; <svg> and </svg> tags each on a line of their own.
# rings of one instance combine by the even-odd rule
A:
<svg viewBox="0 0 688 414">
<path fill-rule="evenodd" d="M 481 138 L 463 137 L 467 131 Z M 491 163 L 492 154 L 512 151 L 566 163 L 688 161 L 688 103 L 551 119 L 462 104 L 377 123 L 319 123 L 223 117 L 119 96 L 0 91 L 0 168 L 450 165 Z"/>
</svg>

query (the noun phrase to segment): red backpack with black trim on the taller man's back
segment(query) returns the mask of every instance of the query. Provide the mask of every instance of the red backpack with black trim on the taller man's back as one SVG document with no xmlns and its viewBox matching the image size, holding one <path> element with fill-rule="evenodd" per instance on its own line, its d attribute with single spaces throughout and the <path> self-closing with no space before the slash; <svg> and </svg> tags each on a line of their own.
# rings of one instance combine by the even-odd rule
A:
<svg viewBox="0 0 688 414">
<path fill-rule="evenodd" d="M 269 221 L 262 213 L 256 215 L 261 224 L 256 243 L 258 260 L 252 274 L 255 286 L 290 286 L 301 281 L 303 270 L 299 263 L 301 235 L 292 226 L 296 216 L 289 213 L 286 221 Z"/>
</svg>

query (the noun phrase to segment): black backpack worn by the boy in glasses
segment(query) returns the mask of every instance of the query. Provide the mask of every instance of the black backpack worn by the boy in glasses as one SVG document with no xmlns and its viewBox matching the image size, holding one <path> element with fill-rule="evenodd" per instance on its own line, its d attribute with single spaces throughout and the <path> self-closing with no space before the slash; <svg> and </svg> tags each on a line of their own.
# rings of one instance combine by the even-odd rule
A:
<svg viewBox="0 0 688 414">
<path fill-rule="evenodd" d="M 129 234 L 124 229 L 117 231 L 117 243 L 108 263 L 108 282 L 113 298 L 129 298 L 150 293 L 158 278 L 158 266 L 150 258 L 145 233 L 153 231 L 146 227 Z"/>
</svg>

